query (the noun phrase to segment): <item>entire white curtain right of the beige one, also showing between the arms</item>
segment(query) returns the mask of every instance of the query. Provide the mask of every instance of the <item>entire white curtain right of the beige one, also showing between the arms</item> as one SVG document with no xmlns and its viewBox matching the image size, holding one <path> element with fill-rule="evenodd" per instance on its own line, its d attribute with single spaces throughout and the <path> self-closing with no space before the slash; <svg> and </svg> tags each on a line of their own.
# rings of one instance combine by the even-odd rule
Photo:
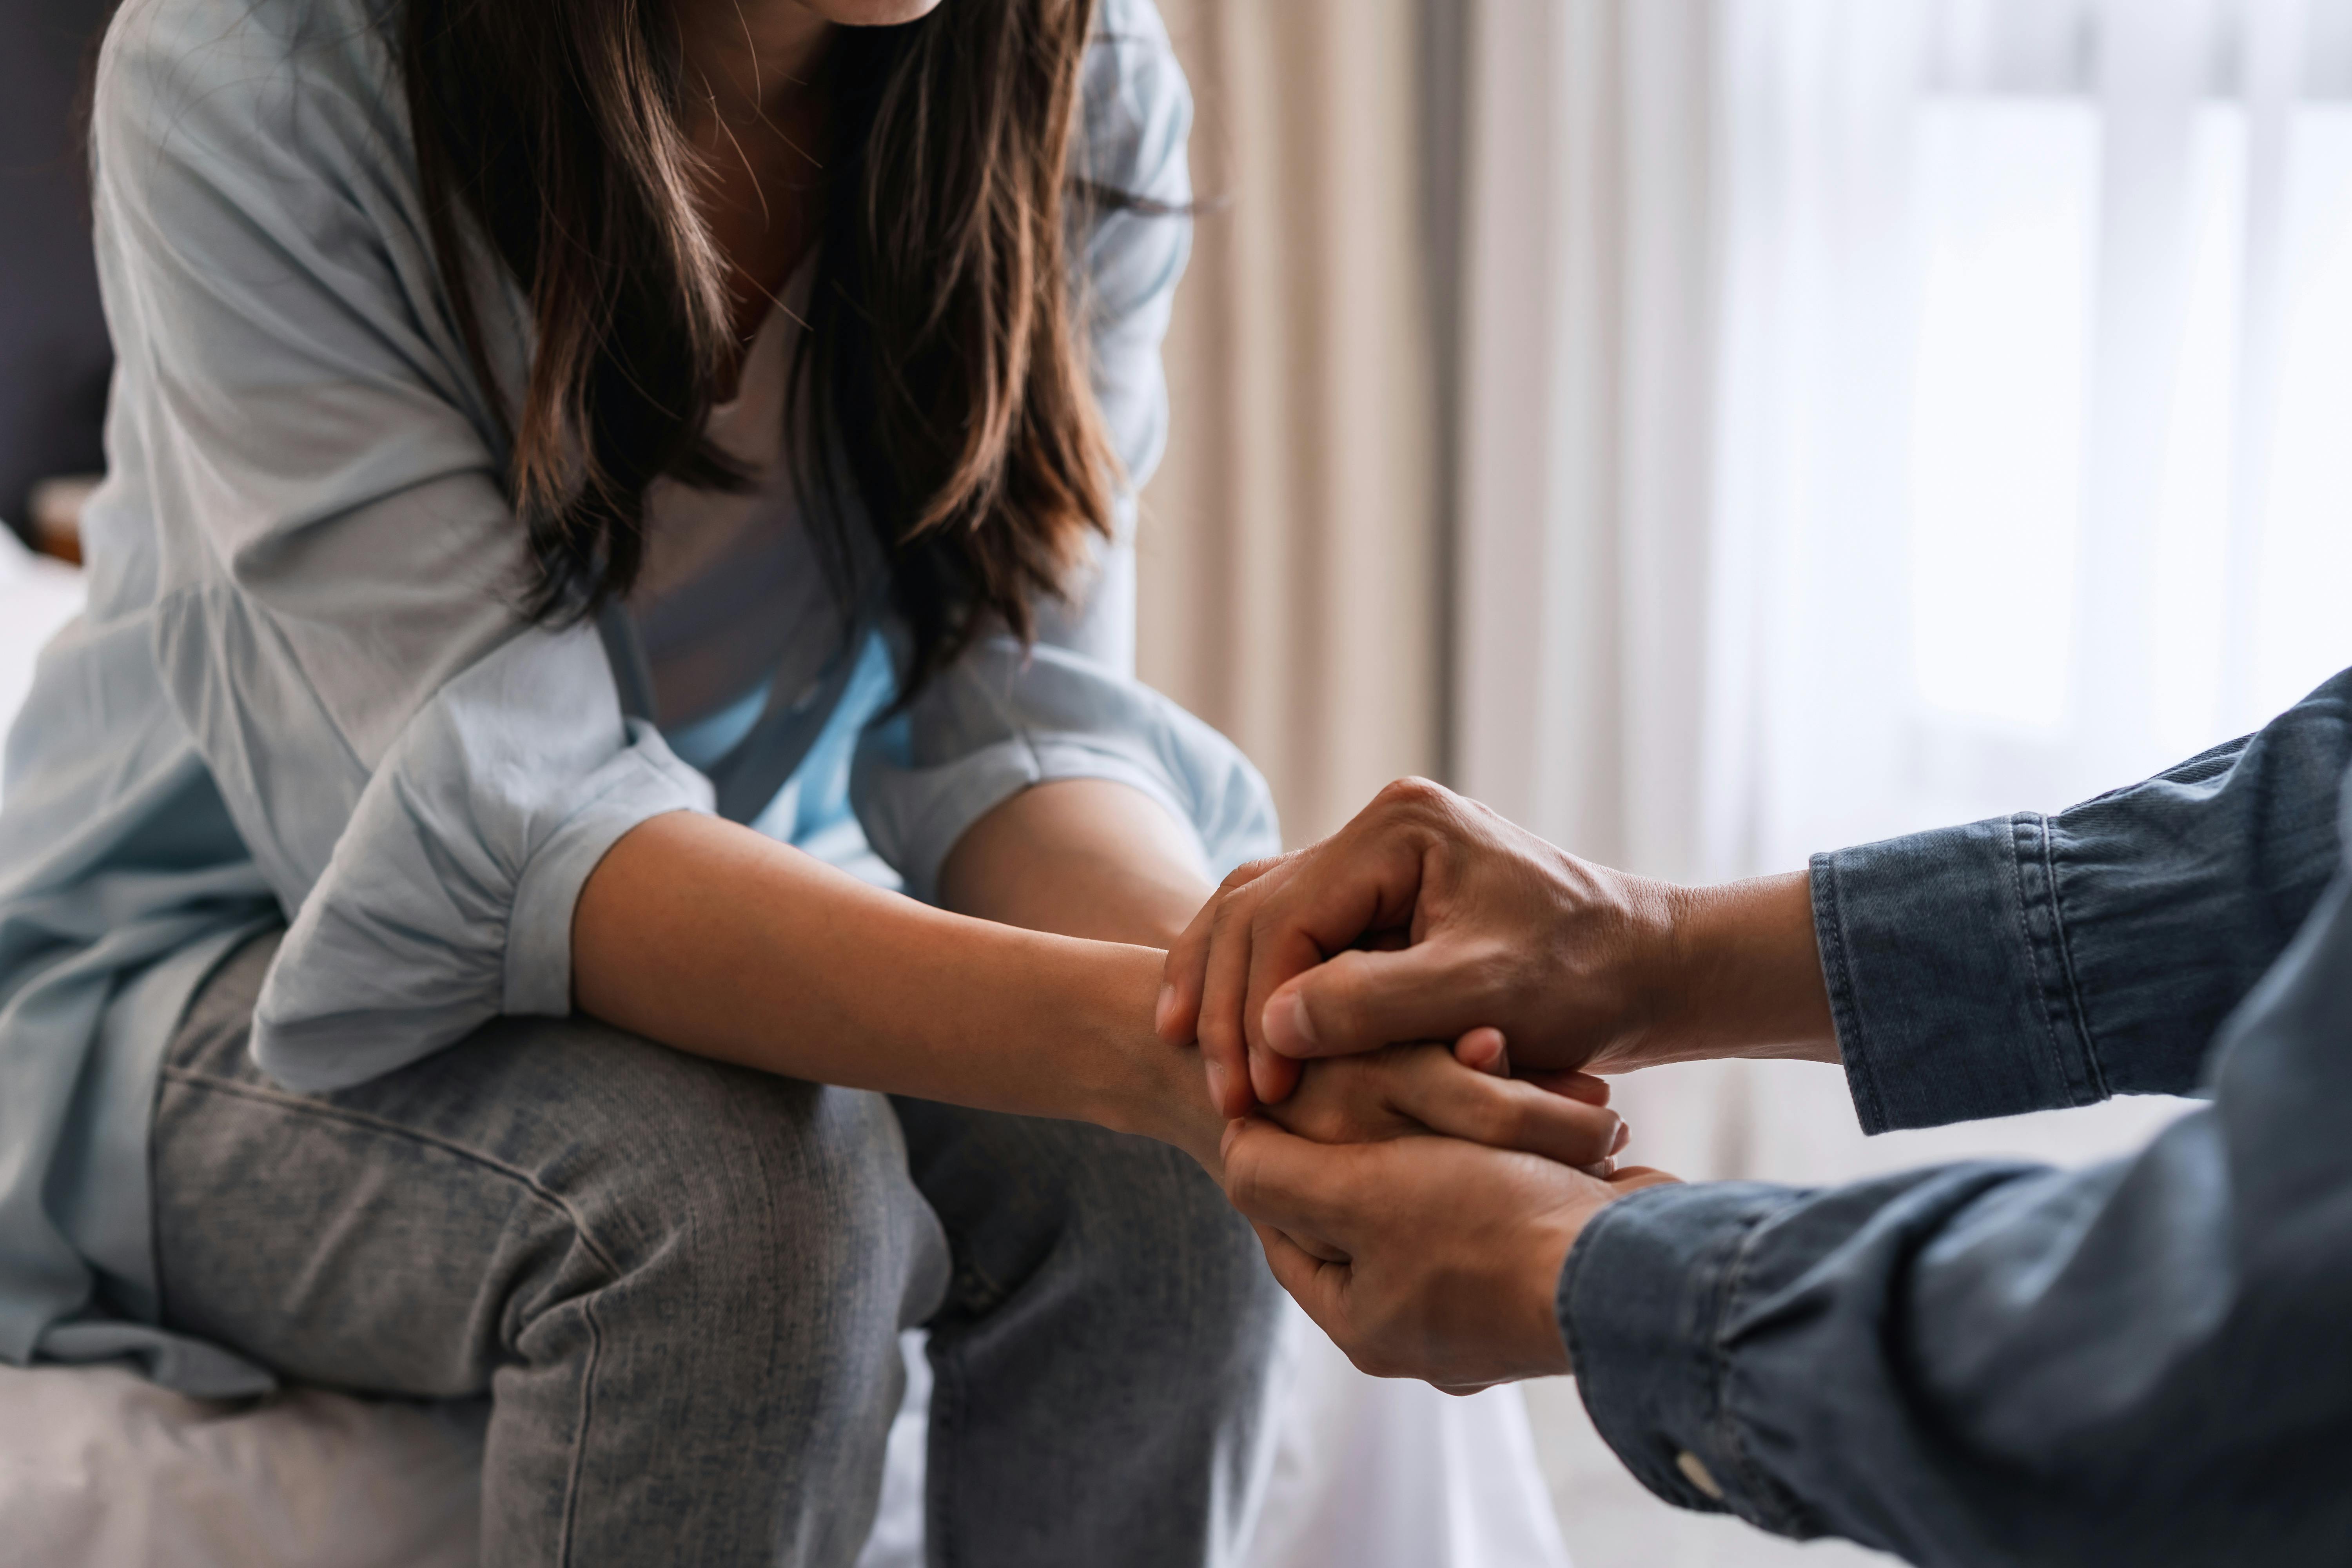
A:
<svg viewBox="0 0 2352 1568">
<path fill-rule="evenodd" d="M 2352 663 L 2352 2 L 1482 0 L 1472 73 L 1472 792 L 1736 877 Z M 1820 1079 L 1632 1095 L 1696 1171 L 1910 1152 Z"/>
</svg>

